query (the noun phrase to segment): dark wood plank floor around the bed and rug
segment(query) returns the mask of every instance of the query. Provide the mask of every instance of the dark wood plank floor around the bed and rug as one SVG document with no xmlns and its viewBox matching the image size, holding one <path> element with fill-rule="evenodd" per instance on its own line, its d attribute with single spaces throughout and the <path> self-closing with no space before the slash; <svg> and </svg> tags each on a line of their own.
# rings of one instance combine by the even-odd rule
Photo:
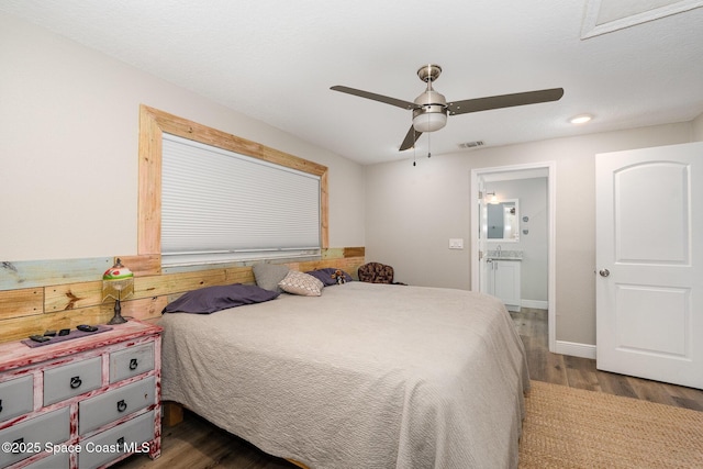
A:
<svg viewBox="0 0 703 469">
<path fill-rule="evenodd" d="M 511 313 L 525 349 L 529 376 L 537 381 L 641 399 L 703 411 L 703 391 L 614 375 L 595 369 L 595 361 L 549 353 L 547 312 L 523 309 Z M 261 453 L 248 443 L 186 412 L 186 420 L 164 428 L 161 457 L 132 456 L 122 469 L 295 469 L 292 464 Z"/>
</svg>

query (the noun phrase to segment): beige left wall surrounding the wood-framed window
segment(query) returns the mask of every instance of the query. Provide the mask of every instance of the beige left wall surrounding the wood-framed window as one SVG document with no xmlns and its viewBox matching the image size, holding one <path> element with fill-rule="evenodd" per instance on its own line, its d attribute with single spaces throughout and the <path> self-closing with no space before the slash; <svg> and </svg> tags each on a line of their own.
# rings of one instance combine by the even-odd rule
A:
<svg viewBox="0 0 703 469">
<path fill-rule="evenodd" d="M 330 168 L 330 245 L 364 246 L 364 168 L 0 13 L 0 260 L 136 254 L 140 103 Z"/>
</svg>

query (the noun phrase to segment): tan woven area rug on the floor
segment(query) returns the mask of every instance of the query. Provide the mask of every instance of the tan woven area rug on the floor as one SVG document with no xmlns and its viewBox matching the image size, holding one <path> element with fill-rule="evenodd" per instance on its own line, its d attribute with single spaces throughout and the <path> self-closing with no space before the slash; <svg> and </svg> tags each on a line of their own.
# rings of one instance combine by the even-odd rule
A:
<svg viewBox="0 0 703 469">
<path fill-rule="evenodd" d="M 703 468 L 703 412 L 532 381 L 520 469 Z"/>
</svg>

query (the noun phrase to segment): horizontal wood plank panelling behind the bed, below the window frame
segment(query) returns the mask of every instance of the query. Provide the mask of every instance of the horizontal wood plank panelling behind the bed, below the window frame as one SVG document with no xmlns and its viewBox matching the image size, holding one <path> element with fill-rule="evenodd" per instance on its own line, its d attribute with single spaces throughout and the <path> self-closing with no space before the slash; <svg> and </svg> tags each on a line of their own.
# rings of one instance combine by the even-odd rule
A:
<svg viewBox="0 0 703 469">
<path fill-rule="evenodd" d="M 160 266 L 159 256 L 121 256 L 135 273 L 134 295 L 122 302 L 122 315 L 157 321 L 169 301 L 199 288 L 254 283 L 252 266 L 228 266 L 178 273 L 147 273 Z M 364 247 L 323 249 L 321 260 L 284 263 L 291 269 L 308 271 L 325 267 L 342 269 L 357 278 L 365 263 Z M 102 272 L 114 259 L 63 260 L 65 272 L 79 266 L 77 276 L 57 277 L 56 261 L 2 263 L 0 266 L 0 343 L 43 334 L 46 330 L 76 327 L 78 324 L 104 324 L 113 315 L 114 301 L 102 303 Z M 86 272 L 86 264 L 100 266 Z M 30 268 L 27 268 L 27 266 Z M 160 271 L 160 270 L 159 270 Z M 23 273 L 22 276 L 19 276 Z M 88 278 L 94 280 L 86 280 Z M 25 283 L 31 288 L 23 288 Z"/>
</svg>

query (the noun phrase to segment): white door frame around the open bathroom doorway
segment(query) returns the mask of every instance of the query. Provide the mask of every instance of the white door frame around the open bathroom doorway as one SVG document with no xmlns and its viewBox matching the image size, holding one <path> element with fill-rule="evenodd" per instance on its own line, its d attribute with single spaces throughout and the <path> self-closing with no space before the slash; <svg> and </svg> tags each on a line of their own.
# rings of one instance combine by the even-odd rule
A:
<svg viewBox="0 0 703 469">
<path fill-rule="evenodd" d="M 479 178 L 491 175 L 496 177 L 506 176 L 505 179 L 515 179 L 507 177 L 513 172 L 547 170 L 547 330 L 549 351 L 556 353 L 557 349 L 557 312 L 556 312 L 556 203 L 557 203 L 557 175 L 556 161 L 527 163 L 523 165 L 498 166 L 491 168 L 471 169 L 471 290 L 480 291 L 480 260 L 479 260 L 479 231 L 480 231 L 480 213 L 477 209 L 479 204 Z M 500 180 L 500 179 L 494 179 Z"/>
</svg>

